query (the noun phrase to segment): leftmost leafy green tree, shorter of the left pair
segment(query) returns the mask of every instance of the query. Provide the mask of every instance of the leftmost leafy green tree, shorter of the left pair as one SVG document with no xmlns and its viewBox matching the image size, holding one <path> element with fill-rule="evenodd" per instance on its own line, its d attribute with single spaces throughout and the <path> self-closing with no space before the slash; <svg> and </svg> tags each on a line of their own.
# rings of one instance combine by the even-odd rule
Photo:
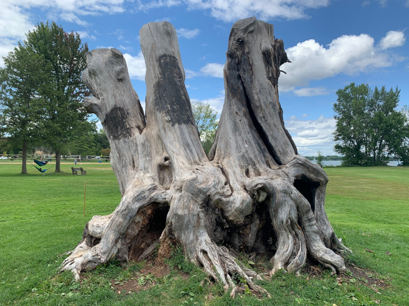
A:
<svg viewBox="0 0 409 306">
<path fill-rule="evenodd" d="M 27 174 L 27 149 L 40 140 L 42 110 L 51 66 L 44 57 L 18 43 L 0 68 L 0 130 L 8 143 L 21 147 L 21 173 Z"/>
</svg>

